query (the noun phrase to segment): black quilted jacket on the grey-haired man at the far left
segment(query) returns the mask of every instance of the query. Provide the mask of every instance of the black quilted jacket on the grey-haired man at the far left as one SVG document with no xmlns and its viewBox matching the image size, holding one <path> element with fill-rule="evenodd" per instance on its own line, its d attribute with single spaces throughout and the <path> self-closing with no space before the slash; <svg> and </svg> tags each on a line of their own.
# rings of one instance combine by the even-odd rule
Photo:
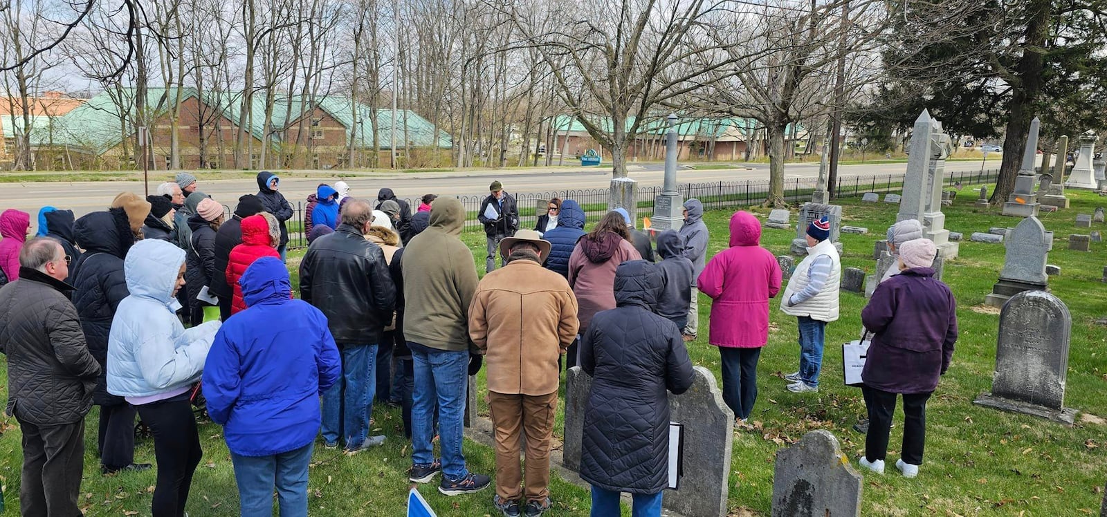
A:
<svg viewBox="0 0 1107 517">
<path fill-rule="evenodd" d="M 8 356 L 8 414 L 38 425 L 84 418 L 100 366 L 89 354 L 76 309 L 63 294 L 73 286 L 20 267 L 0 289 L 0 351 Z"/>
</svg>

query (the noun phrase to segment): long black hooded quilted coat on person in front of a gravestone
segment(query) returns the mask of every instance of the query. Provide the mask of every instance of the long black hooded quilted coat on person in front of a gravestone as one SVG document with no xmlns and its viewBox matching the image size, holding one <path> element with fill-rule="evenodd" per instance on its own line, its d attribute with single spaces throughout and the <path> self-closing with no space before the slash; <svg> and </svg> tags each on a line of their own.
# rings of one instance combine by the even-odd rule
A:
<svg viewBox="0 0 1107 517">
<path fill-rule="evenodd" d="M 692 386 L 692 361 L 681 330 L 652 312 L 661 288 L 656 265 L 622 263 L 618 307 L 598 313 L 580 342 L 592 376 L 580 477 L 608 490 L 656 494 L 669 481 L 668 391 Z"/>
</svg>

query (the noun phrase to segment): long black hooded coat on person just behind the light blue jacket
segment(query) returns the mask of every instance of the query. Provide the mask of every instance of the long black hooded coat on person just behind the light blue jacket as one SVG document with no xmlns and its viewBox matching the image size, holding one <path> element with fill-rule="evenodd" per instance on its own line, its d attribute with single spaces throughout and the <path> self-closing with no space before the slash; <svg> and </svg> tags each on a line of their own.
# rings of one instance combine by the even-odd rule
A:
<svg viewBox="0 0 1107 517">
<path fill-rule="evenodd" d="M 123 209 L 93 212 L 76 220 L 73 225 L 76 243 L 84 249 L 70 278 L 76 287 L 73 305 L 81 317 L 81 328 L 89 351 L 100 363 L 100 378 L 92 401 L 100 405 L 115 405 L 124 402 L 122 397 L 108 394 L 106 390 L 107 335 L 112 331 L 112 318 L 120 302 L 131 293 L 123 275 L 123 258 L 134 244 L 131 224 Z"/>
</svg>

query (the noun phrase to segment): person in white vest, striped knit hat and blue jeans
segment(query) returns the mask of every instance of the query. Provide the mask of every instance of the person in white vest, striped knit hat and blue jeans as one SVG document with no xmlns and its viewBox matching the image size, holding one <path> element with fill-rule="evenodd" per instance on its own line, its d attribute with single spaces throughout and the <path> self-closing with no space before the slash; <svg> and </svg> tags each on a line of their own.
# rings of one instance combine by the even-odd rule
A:
<svg viewBox="0 0 1107 517">
<path fill-rule="evenodd" d="M 826 217 L 807 226 L 807 256 L 796 266 L 780 298 L 780 310 L 799 320 L 799 371 L 785 376 L 788 391 L 819 390 L 826 325 L 838 319 L 841 263 L 830 242 Z"/>
</svg>

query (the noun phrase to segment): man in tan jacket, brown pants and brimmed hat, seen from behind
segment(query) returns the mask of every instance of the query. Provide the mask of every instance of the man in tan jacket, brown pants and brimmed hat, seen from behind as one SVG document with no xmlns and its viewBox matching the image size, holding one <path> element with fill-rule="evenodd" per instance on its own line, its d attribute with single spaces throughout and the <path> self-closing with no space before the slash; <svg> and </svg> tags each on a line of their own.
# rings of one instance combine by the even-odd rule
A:
<svg viewBox="0 0 1107 517">
<path fill-rule="evenodd" d="M 542 267 L 550 243 L 534 230 L 500 241 L 507 265 L 485 275 L 469 306 L 469 337 L 488 365 L 488 409 L 496 428 L 496 498 L 505 516 L 550 507 L 550 436 L 558 359 L 577 336 L 577 298 L 561 275 Z M 519 433 L 525 431 L 526 489 Z"/>
</svg>

